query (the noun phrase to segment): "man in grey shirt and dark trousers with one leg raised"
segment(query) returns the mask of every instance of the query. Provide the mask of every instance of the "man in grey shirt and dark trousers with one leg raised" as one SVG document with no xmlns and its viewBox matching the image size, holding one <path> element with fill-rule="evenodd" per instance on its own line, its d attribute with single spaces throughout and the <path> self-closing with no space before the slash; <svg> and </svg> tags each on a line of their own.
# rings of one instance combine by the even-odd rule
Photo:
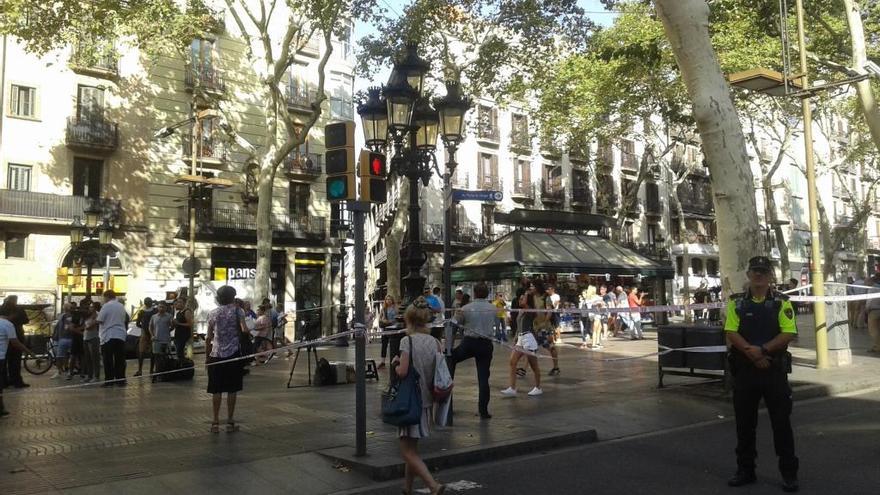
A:
<svg viewBox="0 0 880 495">
<path fill-rule="evenodd" d="M 497 307 L 489 302 L 489 287 L 480 283 L 474 287 L 474 302 L 461 308 L 458 324 L 464 328 L 461 343 L 452 350 L 451 369 L 455 378 L 455 367 L 466 359 L 474 359 L 477 367 L 479 399 L 477 412 L 481 419 L 491 419 L 489 414 L 489 372 L 492 367 L 492 333 L 495 326 Z M 497 300 L 497 299 L 496 299 Z"/>
</svg>

